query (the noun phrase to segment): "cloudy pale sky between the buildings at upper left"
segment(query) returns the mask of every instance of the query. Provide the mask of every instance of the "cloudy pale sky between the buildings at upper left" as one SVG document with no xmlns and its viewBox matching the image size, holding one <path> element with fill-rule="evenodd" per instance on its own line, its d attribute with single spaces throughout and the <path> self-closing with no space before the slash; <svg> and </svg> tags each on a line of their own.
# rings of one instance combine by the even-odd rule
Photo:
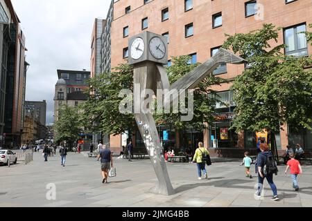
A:
<svg viewBox="0 0 312 221">
<path fill-rule="evenodd" d="M 46 100 L 53 123 L 57 69 L 90 70 L 95 18 L 105 19 L 110 0 L 11 0 L 26 36 L 26 101 Z"/>
</svg>

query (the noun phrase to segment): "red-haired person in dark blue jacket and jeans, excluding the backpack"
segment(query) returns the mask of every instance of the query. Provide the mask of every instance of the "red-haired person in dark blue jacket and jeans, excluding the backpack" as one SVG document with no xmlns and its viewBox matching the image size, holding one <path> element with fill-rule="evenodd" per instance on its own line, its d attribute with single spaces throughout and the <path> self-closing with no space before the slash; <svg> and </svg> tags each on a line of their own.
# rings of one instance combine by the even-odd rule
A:
<svg viewBox="0 0 312 221">
<path fill-rule="evenodd" d="M 259 153 L 257 157 L 258 191 L 254 195 L 257 198 L 261 196 L 261 191 L 263 189 L 263 181 L 264 178 L 266 177 L 266 180 L 268 180 L 268 184 L 270 184 L 270 188 L 272 189 L 273 192 L 273 197 L 271 198 L 271 200 L 273 201 L 279 200 L 279 198 L 277 197 L 277 188 L 273 182 L 273 173 L 264 174 L 265 173 L 264 167 L 266 165 L 268 157 L 272 157 L 272 153 L 269 151 L 268 145 L 266 143 L 260 144 L 260 150 L 261 153 Z"/>
</svg>

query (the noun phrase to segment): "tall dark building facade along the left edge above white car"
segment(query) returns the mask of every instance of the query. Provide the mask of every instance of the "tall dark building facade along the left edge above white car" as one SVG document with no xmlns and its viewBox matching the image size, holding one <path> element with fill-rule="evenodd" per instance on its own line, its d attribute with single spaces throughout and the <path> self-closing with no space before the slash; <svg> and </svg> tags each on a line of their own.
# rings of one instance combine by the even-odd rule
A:
<svg viewBox="0 0 312 221">
<path fill-rule="evenodd" d="M 26 94 L 25 36 L 10 0 L 0 1 L 1 80 L 0 138 L 2 146 L 21 145 Z"/>
</svg>

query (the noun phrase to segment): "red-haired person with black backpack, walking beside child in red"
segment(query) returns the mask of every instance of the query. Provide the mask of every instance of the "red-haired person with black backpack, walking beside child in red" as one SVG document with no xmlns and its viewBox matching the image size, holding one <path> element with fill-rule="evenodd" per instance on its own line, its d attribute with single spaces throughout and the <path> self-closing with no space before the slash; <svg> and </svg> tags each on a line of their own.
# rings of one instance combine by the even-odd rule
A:
<svg viewBox="0 0 312 221">
<path fill-rule="evenodd" d="M 270 188 L 273 192 L 273 197 L 271 200 L 279 200 L 277 196 L 277 188 L 273 182 L 273 174 L 277 175 L 277 165 L 275 163 L 272 153 L 269 151 L 268 144 L 260 144 L 261 153 L 257 157 L 257 166 L 258 166 L 258 190 L 254 195 L 256 197 L 261 197 L 261 191 L 263 189 L 264 178 L 268 180 Z"/>
</svg>

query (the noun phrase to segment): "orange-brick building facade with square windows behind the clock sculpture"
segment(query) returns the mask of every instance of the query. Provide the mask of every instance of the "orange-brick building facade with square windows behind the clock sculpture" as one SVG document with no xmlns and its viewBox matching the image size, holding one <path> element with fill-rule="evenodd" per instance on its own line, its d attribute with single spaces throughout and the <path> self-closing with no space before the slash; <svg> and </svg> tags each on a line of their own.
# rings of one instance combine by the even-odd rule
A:
<svg viewBox="0 0 312 221">
<path fill-rule="evenodd" d="M 127 62 L 128 40 L 146 30 L 164 35 L 168 39 L 168 66 L 170 57 L 191 55 L 191 63 L 204 62 L 213 56 L 226 40 L 225 33 L 247 33 L 262 28 L 263 23 L 273 23 L 282 27 L 278 42 L 271 46 L 288 44 L 288 55 L 311 55 L 312 47 L 307 44 L 304 34 L 312 23 L 311 0 L 150 0 L 150 1 L 114 1 L 114 19 L 111 27 L 111 66 Z M 244 65 L 223 65 L 214 71 L 214 75 L 234 81 L 240 75 Z M 243 150 L 256 148 L 256 135 L 249 131 L 236 134 L 229 130 L 232 125 L 235 104 L 230 87 L 232 83 L 213 86 L 218 91 L 221 102 L 216 104 L 215 122 L 207 131 L 193 131 L 180 135 L 170 128 L 159 126 L 159 135 L 168 137 L 171 146 L 195 149 L 198 141 L 204 141 L 209 148 Z M 223 103 L 228 104 L 225 106 Z M 168 135 L 167 135 L 168 134 Z M 135 145 L 143 145 L 139 133 L 134 136 Z M 312 149 L 312 133 L 303 130 L 294 132 L 291 126 L 284 125 L 276 136 L 278 148 L 288 144 L 300 143 L 304 148 Z M 121 138 L 111 137 L 111 147 L 120 147 Z M 239 152 L 239 151 L 237 151 Z M 220 151 L 216 154 L 220 155 Z M 241 152 L 240 152 L 241 153 Z M 225 154 L 223 154 L 225 155 Z"/>
</svg>

